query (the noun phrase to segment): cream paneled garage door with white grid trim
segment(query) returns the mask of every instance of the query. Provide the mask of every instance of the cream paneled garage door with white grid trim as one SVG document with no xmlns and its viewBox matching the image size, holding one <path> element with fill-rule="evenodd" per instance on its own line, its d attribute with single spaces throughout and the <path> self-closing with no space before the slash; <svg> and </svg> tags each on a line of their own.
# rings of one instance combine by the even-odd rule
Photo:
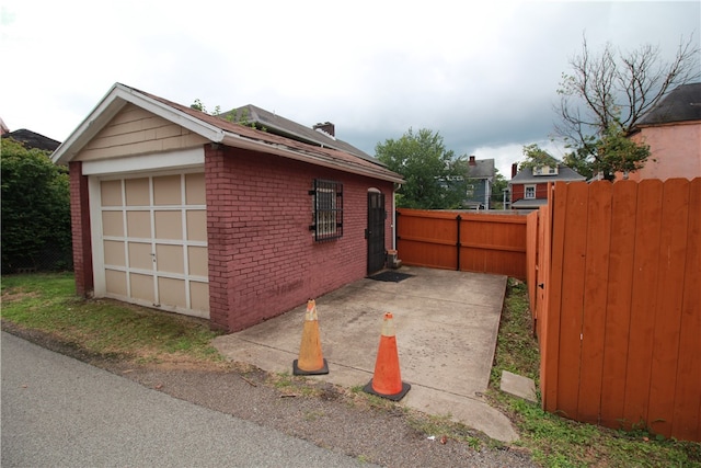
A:
<svg viewBox="0 0 701 468">
<path fill-rule="evenodd" d="M 204 173 L 101 180 L 100 198 L 104 295 L 209 318 Z"/>
</svg>

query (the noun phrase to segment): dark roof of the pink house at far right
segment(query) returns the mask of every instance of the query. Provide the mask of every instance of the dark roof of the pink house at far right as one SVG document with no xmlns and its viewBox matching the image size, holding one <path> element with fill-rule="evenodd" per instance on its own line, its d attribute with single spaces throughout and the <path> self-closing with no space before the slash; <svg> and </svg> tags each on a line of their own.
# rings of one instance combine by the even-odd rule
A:
<svg viewBox="0 0 701 468">
<path fill-rule="evenodd" d="M 701 83 L 675 88 L 637 122 L 637 126 L 687 121 L 701 121 Z"/>
</svg>

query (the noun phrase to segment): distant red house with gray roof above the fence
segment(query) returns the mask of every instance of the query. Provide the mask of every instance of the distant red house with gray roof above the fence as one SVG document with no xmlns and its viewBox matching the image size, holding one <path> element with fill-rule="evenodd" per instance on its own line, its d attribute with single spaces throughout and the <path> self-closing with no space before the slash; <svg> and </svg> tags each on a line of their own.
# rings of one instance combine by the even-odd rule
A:
<svg viewBox="0 0 701 468">
<path fill-rule="evenodd" d="M 516 172 L 516 164 L 514 171 Z M 584 181 L 586 178 L 564 164 L 524 168 L 508 182 L 512 209 L 537 209 L 548 203 L 548 182 Z"/>
</svg>

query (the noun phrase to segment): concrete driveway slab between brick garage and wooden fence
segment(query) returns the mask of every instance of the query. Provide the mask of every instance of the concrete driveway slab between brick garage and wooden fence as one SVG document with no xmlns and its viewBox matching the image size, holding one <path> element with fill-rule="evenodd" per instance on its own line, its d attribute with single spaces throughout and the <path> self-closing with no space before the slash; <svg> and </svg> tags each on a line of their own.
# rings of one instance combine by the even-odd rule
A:
<svg viewBox="0 0 701 468">
<path fill-rule="evenodd" d="M 518 436 L 486 403 L 506 276 L 403 266 L 399 283 L 363 278 L 315 298 L 329 374 L 311 376 L 345 387 L 372 379 L 384 312 L 392 312 L 402 380 L 401 400 L 416 410 L 450 415 L 504 442 Z M 214 345 L 231 361 L 272 373 L 292 373 L 306 305 Z"/>
</svg>

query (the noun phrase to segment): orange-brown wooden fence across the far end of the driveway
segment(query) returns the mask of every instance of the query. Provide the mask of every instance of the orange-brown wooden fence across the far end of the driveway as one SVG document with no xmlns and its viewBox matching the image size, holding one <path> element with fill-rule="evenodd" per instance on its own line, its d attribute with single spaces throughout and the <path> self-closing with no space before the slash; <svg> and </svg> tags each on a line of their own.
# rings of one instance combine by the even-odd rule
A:
<svg viewBox="0 0 701 468">
<path fill-rule="evenodd" d="M 397 250 L 406 265 L 526 279 L 526 217 L 399 208 Z"/>
</svg>

